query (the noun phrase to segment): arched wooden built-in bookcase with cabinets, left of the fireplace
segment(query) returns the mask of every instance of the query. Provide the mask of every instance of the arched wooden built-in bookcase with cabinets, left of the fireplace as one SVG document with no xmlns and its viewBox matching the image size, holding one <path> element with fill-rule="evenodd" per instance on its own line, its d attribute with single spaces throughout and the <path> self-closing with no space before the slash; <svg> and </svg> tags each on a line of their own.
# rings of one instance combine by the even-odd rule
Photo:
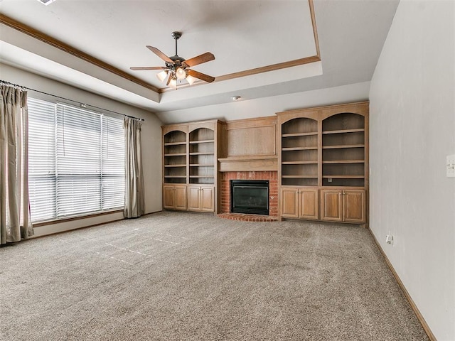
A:
<svg viewBox="0 0 455 341">
<path fill-rule="evenodd" d="M 161 127 L 165 209 L 217 212 L 223 126 L 211 120 Z"/>
</svg>

